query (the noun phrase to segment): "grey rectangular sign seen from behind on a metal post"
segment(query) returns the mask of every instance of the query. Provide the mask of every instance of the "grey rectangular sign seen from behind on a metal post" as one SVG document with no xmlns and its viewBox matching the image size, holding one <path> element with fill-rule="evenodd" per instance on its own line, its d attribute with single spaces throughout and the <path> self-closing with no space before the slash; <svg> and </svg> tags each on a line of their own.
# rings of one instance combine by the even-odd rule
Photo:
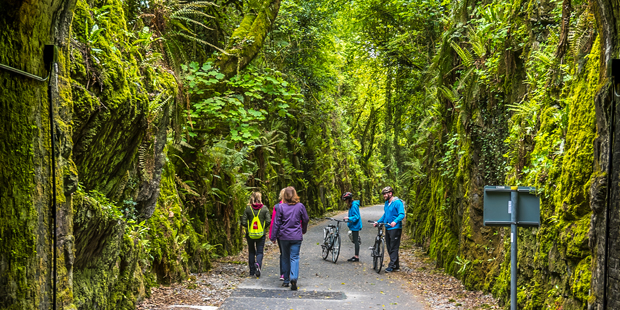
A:
<svg viewBox="0 0 620 310">
<path fill-rule="evenodd" d="M 484 226 L 510 226 L 510 309 L 517 310 L 517 228 L 540 226 L 540 198 L 527 186 L 485 186 Z"/>
</svg>

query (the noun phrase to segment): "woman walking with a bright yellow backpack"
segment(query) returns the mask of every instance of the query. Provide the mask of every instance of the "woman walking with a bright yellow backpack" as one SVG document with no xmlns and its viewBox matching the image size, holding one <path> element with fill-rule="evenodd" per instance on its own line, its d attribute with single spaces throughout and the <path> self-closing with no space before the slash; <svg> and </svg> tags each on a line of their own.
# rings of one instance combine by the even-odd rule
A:
<svg viewBox="0 0 620 310">
<path fill-rule="evenodd" d="M 248 242 L 250 276 L 260 277 L 261 267 L 263 266 L 265 232 L 270 223 L 269 208 L 263 205 L 261 193 L 253 192 L 241 218 L 241 224 L 246 227 L 245 238 Z"/>
</svg>

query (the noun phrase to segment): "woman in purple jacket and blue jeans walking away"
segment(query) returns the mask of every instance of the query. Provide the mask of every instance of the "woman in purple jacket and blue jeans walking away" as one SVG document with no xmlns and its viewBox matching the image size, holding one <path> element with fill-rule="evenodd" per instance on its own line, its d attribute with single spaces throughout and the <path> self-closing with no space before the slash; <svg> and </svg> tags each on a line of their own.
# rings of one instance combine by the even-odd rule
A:
<svg viewBox="0 0 620 310">
<path fill-rule="evenodd" d="M 294 187 L 285 188 L 282 198 L 284 203 L 276 211 L 270 239 L 272 242 L 280 239 L 282 245 L 282 269 L 284 271 L 282 286 L 288 287 L 290 283 L 291 290 L 296 291 L 299 277 L 299 250 L 303 234 L 308 229 L 308 212 L 306 207 L 299 202 Z"/>
</svg>

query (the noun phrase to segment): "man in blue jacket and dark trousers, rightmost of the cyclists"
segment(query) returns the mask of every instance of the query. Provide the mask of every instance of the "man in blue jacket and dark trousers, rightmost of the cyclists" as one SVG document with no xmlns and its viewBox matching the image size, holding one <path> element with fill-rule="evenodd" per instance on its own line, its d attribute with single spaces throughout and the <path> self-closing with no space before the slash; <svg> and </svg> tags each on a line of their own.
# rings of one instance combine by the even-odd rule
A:
<svg viewBox="0 0 620 310">
<path fill-rule="evenodd" d="M 403 202 L 394 197 L 394 190 L 387 186 L 382 191 L 385 206 L 383 207 L 383 216 L 379 219 L 379 223 L 386 223 L 385 245 L 390 254 L 390 264 L 385 272 L 392 272 L 400 269 L 398 261 L 398 250 L 400 248 L 400 237 L 403 233 L 403 219 L 405 219 L 405 207 Z M 374 224 L 377 226 L 377 223 Z"/>
</svg>

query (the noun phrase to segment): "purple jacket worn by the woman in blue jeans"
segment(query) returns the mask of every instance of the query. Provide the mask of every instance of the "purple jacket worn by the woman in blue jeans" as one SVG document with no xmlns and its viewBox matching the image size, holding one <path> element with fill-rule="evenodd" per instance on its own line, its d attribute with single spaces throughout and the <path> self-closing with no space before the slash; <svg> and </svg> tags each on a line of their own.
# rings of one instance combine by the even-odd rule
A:
<svg viewBox="0 0 620 310">
<path fill-rule="evenodd" d="M 303 234 L 308 230 L 308 220 L 308 212 L 301 202 L 294 205 L 280 204 L 273 219 L 271 241 L 303 240 Z"/>
</svg>

